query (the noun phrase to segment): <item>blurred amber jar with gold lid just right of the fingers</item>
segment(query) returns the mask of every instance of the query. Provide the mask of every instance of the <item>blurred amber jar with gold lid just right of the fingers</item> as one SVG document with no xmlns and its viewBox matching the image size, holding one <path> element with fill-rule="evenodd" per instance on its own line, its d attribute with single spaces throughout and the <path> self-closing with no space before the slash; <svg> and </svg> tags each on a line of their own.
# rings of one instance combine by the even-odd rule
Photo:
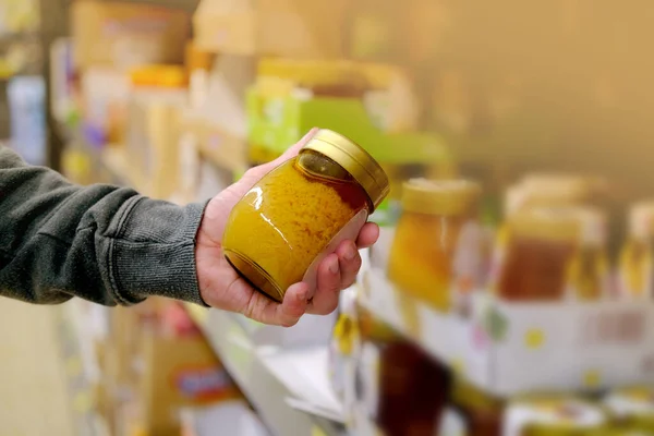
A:
<svg viewBox="0 0 654 436">
<path fill-rule="evenodd" d="M 455 282 L 455 257 L 460 234 L 474 225 L 481 189 L 464 180 L 428 181 L 412 179 L 402 190 L 402 215 L 398 221 L 388 261 L 388 278 L 402 292 L 434 308 L 447 312 Z M 472 265 L 460 280 L 474 280 Z M 473 283 L 470 283 L 473 287 Z"/>
</svg>

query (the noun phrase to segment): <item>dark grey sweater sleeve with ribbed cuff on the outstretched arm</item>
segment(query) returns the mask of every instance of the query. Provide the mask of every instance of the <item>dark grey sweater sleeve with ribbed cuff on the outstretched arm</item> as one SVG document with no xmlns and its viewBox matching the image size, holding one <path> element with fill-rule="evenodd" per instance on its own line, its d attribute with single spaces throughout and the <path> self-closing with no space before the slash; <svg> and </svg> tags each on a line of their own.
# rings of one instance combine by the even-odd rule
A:
<svg viewBox="0 0 654 436">
<path fill-rule="evenodd" d="M 0 295 L 130 305 L 149 295 L 204 304 L 195 235 L 204 207 L 110 185 L 82 187 L 0 146 Z"/>
</svg>

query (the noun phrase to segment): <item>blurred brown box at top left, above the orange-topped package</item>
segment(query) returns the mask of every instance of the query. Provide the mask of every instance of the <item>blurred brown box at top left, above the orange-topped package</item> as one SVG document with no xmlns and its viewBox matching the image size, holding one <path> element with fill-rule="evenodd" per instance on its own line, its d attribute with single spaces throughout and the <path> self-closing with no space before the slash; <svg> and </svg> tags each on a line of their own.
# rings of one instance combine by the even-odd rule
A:
<svg viewBox="0 0 654 436">
<path fill-rule="evenodd" d="M 75 65 L 130 68 L 182 63 L 190 15 L 152 4 L 76 0 L 71 8 Z"/>
</svg>

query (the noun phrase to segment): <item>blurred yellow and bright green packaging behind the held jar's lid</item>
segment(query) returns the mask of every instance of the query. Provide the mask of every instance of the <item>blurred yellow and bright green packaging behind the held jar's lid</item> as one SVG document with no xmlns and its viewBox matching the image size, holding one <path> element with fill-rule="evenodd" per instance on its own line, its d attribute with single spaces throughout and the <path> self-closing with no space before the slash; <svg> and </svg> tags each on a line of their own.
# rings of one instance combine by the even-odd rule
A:
<svg viewBox="0 0 654 436">
<path fill-rule="evenodd" d="M 447 166 L 434 134 L 414 130 L 413 90 L 405 72 L 384 64 L 267 59 L 247 94 L 250 159 L 283 153 L 315 125 L 347 135 L 382 164 Z"/>
</svg>

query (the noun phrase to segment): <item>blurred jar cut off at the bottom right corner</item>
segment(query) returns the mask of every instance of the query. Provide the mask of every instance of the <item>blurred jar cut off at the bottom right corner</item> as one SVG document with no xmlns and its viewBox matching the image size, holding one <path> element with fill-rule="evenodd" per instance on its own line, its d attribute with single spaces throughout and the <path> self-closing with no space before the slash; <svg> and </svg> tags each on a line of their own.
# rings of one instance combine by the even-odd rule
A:
<svg viewBox="0 0 654 436">
<path fill-rule="evenodd" d="M 621 427 L 654 434 L 654 388 L 634 386 L 609 393 L 604 403 Z"/>
</svg>

